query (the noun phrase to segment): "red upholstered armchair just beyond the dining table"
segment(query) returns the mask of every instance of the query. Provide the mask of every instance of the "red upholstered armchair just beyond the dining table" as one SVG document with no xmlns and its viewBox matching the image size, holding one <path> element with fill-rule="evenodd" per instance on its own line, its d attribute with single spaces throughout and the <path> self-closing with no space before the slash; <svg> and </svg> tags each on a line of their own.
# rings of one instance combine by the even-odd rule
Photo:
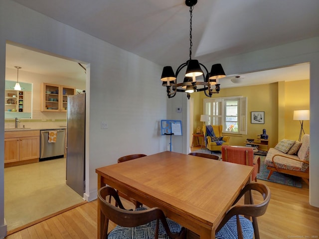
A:
<svg viewBox="0 0 319 239">
<path fill-rule="evenodd" d="M 238 163 L 253 166 L 251 180 L 257 182 L 257 173 L 260 171 L 260 156 L 254 157 L 252 147 L 223 145 L 221 147 L 221 158 L 225 162 Z"/>
</svg>

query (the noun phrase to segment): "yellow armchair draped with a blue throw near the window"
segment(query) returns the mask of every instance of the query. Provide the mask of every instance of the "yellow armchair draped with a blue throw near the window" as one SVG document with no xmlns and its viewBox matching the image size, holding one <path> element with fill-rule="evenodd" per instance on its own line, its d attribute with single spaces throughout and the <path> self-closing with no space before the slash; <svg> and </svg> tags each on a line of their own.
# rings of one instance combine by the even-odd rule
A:
<svg viewBox="0 0 319 239">
<path fill-rule="evenodd" d="M 223 141 L 223 142 L 221 142 L 220 145 L 217 145 L 218 143 L 216 141 L 214 141 L 210 136 L 207 136 L 206 125 L 203 125 L 203 134 L 205 137 L 206 147 L 210 151 L 221 151 L 222 145 L 229 145 L 230 136 L 222 136 L 223 125 L 211 125 L 211 126 L 213 127 L 215 136 L 218 138 L 222 137 L 222 139 L 219 141 Z"/>
</svg>

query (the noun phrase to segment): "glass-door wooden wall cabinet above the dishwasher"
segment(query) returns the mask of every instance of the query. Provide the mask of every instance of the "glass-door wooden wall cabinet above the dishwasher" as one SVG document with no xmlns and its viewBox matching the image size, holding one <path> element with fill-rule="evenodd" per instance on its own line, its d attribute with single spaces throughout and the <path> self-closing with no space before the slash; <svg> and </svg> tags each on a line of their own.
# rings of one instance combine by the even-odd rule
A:
<svg viewBox="0 0 319 239">
<path fill-rule="evenodd" d="M 75 95 L 75 88 L 42 83 L 41 111 L 66 112 L 68 96 Z"/>
</svg>

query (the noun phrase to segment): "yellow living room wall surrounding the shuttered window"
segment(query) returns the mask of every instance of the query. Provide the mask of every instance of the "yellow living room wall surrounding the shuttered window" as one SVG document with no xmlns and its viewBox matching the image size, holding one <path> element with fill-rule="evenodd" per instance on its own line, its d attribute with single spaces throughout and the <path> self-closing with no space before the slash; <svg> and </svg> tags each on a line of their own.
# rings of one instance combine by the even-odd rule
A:
<svg viewBox="0 0 319 239">
<path fill-rule="evenodd" d="M 231 135 L 231 145 L 244 145 L 246 138 L 256 138 L 263 133 L 263 128 L 269 135 L 269 144 L 274 147 L 282 138 L 298 140 L 300 123 L 293 120 L 294 110 L 310 109 L 310 81 L 279 82 L 249 87 L 222 89 L 212 98 L 244 96 L 247 97 L 247 135 Z M 203 114 L 202 92 L 192 94 L 194 99 L 194 128 L 202 126 L 200 115 Z M 251 123 L 251 112 L 265 112 L 265 123 Z M 309 133 L 309 121 L 304 122 L 304 129 Z M 226 133 L 224 134 L 226 135 Z"/>
</svg>

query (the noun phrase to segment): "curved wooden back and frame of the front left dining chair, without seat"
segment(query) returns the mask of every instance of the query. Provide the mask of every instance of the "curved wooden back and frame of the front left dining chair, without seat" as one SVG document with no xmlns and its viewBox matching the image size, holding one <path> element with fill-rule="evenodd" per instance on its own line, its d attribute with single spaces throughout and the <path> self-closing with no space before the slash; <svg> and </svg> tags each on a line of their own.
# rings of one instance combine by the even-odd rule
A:
<svg viewBox="0 0 319 239">
<path fill-rule="evenodd" d="M 112 198 L 116 201 L 118 207 L 111 204 Z M 185 229 L 179 233 L 171 233 L 166 222 L 164 213 L 159 208 L 151 208 L 142 211 L 126 210 L 120 200 L 114 188 L 105 186 L 98 191 L 98 205 L 101 209 L 101 213 L 105 216 L 103 239 L 108 238 L 108 226 L 109 220 L 121 227 L 137 227 L 147 224 L 151 221 L 157 220 L 155 239 L 158 239 L 159 232 L 159 220 L 161 221 L 166 234 L 172 239 L 184 239 Z M 98 222 L 99 223 L 99 222 Z"/>
</svg>

